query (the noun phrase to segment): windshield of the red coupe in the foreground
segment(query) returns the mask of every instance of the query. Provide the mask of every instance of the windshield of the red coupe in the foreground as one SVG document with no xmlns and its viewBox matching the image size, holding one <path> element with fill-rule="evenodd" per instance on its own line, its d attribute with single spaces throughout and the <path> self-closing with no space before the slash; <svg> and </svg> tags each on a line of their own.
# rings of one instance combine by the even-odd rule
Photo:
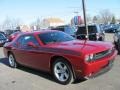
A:
<svg viewBox="0 0 120 90">
<path fill-rule="evenodd" d="M 55 43 L 55 42 L 66 42 L 66 41 L 72 41 L 75 39 L 64 32 L 42 33 L 42 34 L 39 34 L 39 38 L 44 44 Z"/>
</svg>

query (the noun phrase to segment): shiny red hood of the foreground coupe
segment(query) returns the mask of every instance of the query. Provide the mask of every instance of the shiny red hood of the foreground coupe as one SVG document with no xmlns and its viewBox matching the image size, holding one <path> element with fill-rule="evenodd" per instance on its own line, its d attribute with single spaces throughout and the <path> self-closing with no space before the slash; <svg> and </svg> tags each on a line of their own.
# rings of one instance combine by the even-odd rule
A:
<svg viewBox="0 0 120 90">
<path fill-rule="evenodd" d="M 72 50 L 81 53 L 98 53 L 113 47 L 110 42 L 73 40 L 67 42 L 47 44 L 47 47 Z M 58 51 L 59 52 L 59 51 Z"/>
</svg>

